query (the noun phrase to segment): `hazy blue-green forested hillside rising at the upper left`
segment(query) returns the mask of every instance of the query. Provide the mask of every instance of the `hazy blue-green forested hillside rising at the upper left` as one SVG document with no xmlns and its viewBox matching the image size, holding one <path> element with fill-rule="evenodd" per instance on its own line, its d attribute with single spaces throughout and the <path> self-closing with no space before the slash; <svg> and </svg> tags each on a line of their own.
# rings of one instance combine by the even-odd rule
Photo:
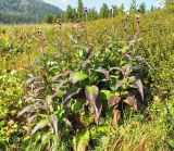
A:
<svg viewBox="0 0 174 151">
<path fill-rule="evenodd" d="M 35 23 L 45 14 L 58 14 L 59 8 L 44 0 L 0 0 L 0 23 Z"/>
</svg>

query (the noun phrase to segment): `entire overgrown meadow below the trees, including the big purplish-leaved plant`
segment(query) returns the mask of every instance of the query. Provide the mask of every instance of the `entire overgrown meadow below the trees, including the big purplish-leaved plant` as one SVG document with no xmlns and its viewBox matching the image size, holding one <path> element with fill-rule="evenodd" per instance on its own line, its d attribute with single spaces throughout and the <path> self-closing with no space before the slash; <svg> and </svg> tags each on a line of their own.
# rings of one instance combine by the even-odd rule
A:
<svg viewBox="0 0 174 151">
<path fill-rule="evenodd" d="M 173 150 L 173 9 L 0 27 L 0 150 Z"/>
</svg>

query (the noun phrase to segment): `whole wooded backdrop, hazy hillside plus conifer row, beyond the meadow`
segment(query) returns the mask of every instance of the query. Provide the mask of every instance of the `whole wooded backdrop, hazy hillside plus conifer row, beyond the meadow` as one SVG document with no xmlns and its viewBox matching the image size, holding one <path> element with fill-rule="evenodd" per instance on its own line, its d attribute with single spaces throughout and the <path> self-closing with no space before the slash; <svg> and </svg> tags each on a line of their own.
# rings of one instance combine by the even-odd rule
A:
<svg viewBox="0 0 174 151">
<path fill-rule="evenodd" d="M 154 11 L 159 8 L 151 7 L 147 10 L 146 3 L 140 3 L 137 7 L 136 0 L 132 1 L 129 11 L 140 9 L 141 13 Z M 67 5 L 65 11 L 44 2 L 44 0 L 1 0 L 0 1 L 0 23 L 3 24 L 20 24 L 20 23 L 49 23 L 53 24 L 58 18 L 61 22 L 76 22 L 78 20 L 95 21 L 98 18 L 108 18 L 124 13 L 125 7 L 108 5 L 103 3 L 99 10 L 96 8 L 86 8 L 83 0 L 78 0 L 77 8 Z M 86 13 L 84 12 L 86 11 Z M 85 14 L 84 14 L 85 13 Z"/>
</svg>

